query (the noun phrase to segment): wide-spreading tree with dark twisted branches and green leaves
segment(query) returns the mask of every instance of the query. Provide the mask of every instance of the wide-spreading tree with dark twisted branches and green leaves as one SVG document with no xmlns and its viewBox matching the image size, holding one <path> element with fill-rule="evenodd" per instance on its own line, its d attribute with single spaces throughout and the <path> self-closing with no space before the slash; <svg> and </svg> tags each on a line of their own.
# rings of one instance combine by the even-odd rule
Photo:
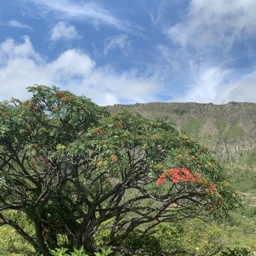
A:
<svg viewBox="0 0 256 256">
<path fill-rule="evenodd" d="M 111 115 L 56 87 L 28 91 L 31 99 L 0 106 L 0 225 L 43 255 L 82 245 L 132 253 L 122 241 L 134 230 L 212 220 L 239 203 L 211 152 L 170 122 Z M 8 210 L 24 212 L 35 236 Z"/>
</svg>

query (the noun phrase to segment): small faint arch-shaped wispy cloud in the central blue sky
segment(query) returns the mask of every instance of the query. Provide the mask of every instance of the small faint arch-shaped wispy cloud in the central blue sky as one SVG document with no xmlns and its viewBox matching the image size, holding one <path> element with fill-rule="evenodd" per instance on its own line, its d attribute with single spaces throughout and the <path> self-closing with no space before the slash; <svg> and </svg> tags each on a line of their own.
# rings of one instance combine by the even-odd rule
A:
<svg viewBox="0 0 256 256">
<path fill-rule="evenodd" d="M 122 52 L 127 55 L 127 51 L 129 51 L 129 40 L 127 35 L 116 35 L 110 36 L 106 39 L 104 44 L 104 55 L 107 55 L 109 51 L 119 48 Z"/>
</svg>

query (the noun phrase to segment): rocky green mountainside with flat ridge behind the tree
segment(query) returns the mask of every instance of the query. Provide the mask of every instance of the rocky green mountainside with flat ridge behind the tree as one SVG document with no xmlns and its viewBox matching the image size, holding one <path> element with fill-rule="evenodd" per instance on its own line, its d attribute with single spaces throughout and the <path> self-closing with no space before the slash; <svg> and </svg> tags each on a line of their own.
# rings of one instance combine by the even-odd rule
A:
<svg viewBox="0 0 256 256">
<path fill-rule="evenodd" d="M 239 189 L 256 191 L 256 104 L 154 102 L 108 108 L 113 113 L 127 109 L 150 119 L 171 120 L 178 129 L 215 152 Z"/>
</svg>

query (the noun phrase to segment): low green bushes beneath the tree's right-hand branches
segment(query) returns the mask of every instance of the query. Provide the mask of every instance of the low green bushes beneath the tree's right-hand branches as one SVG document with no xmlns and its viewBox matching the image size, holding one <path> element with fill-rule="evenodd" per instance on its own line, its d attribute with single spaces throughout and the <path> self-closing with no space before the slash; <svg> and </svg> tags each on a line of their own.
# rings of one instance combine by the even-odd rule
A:
<svg viewBox="0 0 256 256">
<path fill-rule="evenodd" d="M 230 251 L 248 252 L 251 256 L 256 251 L 254 230 L 248 230 L 245 234 L 243 228 L 230 227 L 227 223 L 220 225 L 216 222 L 205 223 L 202 220 L 163 223 L 152 231 L 152 234 L 147 236 L 134 232 L 122 243 L 127 248 L 146 249 L 147 255 L 168 255 L 179 250 L 181 252 L 177 255 L 180 256 L 187 255 L 185 251 L 195 255 L 213 255 L 214 252 L 216 255 L 225 255 L 223 253 Z"/>
</svg>

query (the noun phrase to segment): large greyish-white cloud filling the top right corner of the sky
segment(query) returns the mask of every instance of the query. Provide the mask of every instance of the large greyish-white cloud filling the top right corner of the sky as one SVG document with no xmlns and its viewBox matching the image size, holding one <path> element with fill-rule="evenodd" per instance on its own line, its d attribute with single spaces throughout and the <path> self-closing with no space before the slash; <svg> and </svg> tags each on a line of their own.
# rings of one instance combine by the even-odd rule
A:
<svg viewBox="0 0 256 256">
<path fill-rule="evenodd" d="M 192 0 L 182 22 L 165 31 L 183 46 L 229 49 L 255 36 L 255 13 L 254 0 Z"/>
</svg>

